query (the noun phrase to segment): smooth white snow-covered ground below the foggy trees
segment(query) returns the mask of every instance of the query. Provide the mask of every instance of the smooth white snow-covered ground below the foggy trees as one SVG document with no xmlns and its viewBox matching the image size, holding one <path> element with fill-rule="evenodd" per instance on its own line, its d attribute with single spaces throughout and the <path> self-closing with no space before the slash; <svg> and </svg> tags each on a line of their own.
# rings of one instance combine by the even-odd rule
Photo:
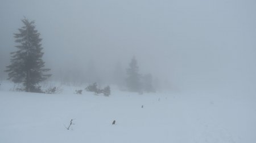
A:
<svg viewBox="0 0 256 143">
<path fill-rule="evenodd" d="M 12 84 L 1 84 L 3 143 L 256 142 L 254 95 L 139 95 L 113 89 L 104 97 L 85 90 L 75 94 L 84 86 L 63 85 L 60 94 L 38 94 L 13 92 Z"/>
</svg>

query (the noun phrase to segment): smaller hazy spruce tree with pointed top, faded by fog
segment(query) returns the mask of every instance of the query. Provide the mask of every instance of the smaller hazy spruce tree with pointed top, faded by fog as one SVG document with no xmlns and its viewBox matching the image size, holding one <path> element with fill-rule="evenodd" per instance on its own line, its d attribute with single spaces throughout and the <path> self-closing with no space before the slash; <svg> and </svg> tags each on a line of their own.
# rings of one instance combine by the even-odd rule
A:
<svg viewBox="0 0 256 143">
<path fill-rule="evenodd" d="M 129 64 L 129 68 L 127 68 L 127 88 L 130 92 L 141 92 L 141 75 L 139 72 L 139 67 L 137 65 L 137 60 L 135 57 L 131 59 L 131 62 Z"/>
</svg>

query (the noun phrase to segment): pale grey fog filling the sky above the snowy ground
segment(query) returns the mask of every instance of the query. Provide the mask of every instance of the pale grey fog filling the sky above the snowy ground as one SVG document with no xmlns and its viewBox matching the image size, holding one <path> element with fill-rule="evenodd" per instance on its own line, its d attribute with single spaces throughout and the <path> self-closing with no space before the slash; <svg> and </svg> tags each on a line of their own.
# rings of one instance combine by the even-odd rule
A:
<svg viewBox="0 0 256 143">
<path fill-rule="evenodd" d="M 0 79 L 20 19 L 35 20 L 51 80 L 112 83 L 133 56 L 162 89 L 255 92 L 256 1 L 0 2 Z M 88 73 L 90 75 L 88 76 Z"/>
</svg>

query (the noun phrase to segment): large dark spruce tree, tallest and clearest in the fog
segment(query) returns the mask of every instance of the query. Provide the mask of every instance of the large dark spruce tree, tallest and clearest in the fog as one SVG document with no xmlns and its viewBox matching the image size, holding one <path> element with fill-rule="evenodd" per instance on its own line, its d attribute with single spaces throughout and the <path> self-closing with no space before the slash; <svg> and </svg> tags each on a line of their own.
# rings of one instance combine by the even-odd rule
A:
<svg viewBox="0 0 256 143">
<path fill-rule="evenodd" d="M 9 80 L 14 83 L 22 83 L 26 92 L 42 92 L 38 84 L 46 80 L 49 68 L 44 68 L 42 38 L 35 29 L 35 22 L 22 19 L 24 26 L 19 28 L 18 33 L 14 33 L 15 47 L 18 49 L 11 53 L 11 64 L 7 66 Z"/>
</svg>

